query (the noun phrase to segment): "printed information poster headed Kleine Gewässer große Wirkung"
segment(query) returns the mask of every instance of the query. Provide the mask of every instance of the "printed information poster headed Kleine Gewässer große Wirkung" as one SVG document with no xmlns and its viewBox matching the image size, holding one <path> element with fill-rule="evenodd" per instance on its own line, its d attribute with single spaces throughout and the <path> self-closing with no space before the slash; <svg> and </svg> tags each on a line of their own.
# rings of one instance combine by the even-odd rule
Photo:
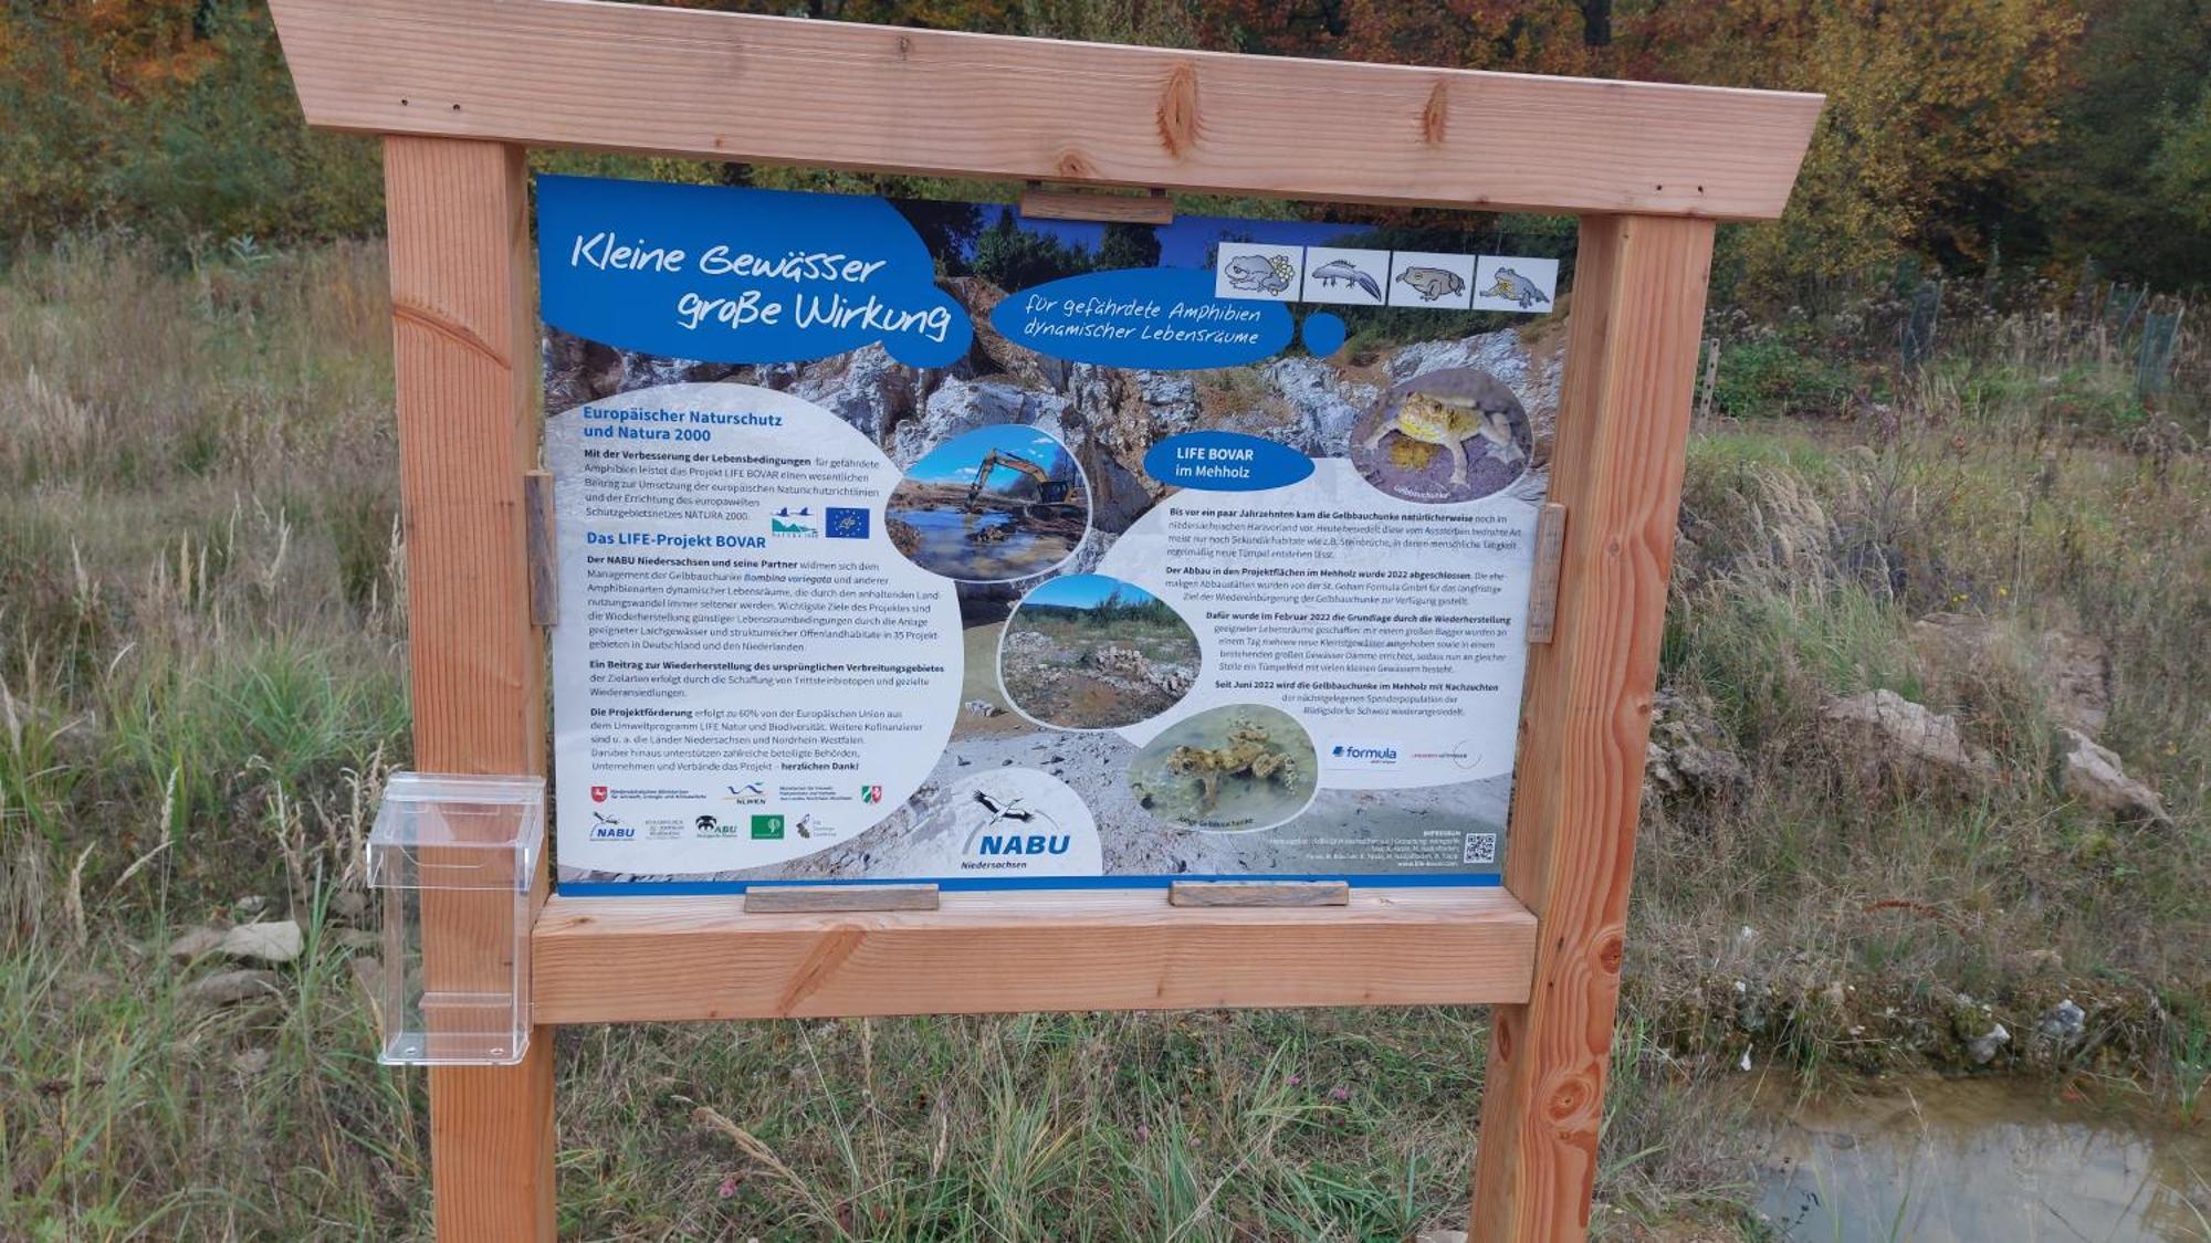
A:
<svg viewBox="0 0 2211 1243">
<path fill-rule="evenodd" d="M 1565 239 L 537 210 L 562 891 L 1497 880 Z"/>
</svg>

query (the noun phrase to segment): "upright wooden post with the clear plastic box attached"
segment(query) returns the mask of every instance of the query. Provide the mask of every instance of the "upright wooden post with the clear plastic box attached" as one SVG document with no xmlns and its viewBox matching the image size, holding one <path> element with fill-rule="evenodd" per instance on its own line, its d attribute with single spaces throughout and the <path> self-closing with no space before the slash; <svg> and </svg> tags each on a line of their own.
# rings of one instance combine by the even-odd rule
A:
<svg viewBox="0 0 2211 1243">
<path fill-rule="evenodd" d="M 539 429 L 522 148 L 387 137 L 385 197 L 416 767 L 542 774 L 544 641 L 528 610 L 522 484 Z M 535 909 L 542 865 L 533 894 Z M 425 978 L 467 978 L 515 953 L 511 894 L 425 894 Z M 551 1028 L 531 1035 L 520 1066 L 433 1068 L 429 1121 L 440 1239 L 553 1239 Z"/>
</svg>

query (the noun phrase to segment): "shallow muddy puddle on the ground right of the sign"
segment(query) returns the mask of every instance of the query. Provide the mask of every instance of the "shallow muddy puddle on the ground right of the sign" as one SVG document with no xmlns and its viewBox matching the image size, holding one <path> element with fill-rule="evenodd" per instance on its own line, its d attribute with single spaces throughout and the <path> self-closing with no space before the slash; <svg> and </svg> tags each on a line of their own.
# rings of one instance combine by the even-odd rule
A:
<svg viewBox="0 0 2211 1243">
<path fill-rule="evenodd" d="M 2211 1241 L 2211 1130 L 2047 1086 L 1915 1082 L 1798 1104 L 1762 1093 L 1760 1208 L 1822 1243 Z"/>
</svg>

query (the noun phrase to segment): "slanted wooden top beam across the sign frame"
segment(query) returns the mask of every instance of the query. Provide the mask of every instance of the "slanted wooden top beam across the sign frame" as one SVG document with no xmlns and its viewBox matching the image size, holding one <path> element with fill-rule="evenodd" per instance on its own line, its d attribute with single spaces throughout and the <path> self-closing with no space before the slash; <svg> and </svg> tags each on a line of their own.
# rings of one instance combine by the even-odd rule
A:
<svg viewBox="0 0 2211 1243">
<path fill-rule="evenodd" d="M 575 0 L 274 0 L 316 126 L 1364 203 L 1782 212 L 1817 95 Z"/>
</svg>

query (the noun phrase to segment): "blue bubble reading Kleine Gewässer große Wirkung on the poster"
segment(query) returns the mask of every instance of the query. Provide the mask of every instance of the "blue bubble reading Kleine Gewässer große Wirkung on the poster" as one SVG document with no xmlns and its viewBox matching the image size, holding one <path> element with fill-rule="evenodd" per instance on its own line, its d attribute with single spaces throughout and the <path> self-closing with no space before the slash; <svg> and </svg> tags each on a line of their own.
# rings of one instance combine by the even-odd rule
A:
<svg viewBox="0 0 2211 1243">
<path fill-rule="evenodd" d="M 975 325 L 884 199 L 537 179 L 537 276 L 553 327 L 670 358 L 809 363 L 882 341 L 946 367 Z"/>
</svg>

